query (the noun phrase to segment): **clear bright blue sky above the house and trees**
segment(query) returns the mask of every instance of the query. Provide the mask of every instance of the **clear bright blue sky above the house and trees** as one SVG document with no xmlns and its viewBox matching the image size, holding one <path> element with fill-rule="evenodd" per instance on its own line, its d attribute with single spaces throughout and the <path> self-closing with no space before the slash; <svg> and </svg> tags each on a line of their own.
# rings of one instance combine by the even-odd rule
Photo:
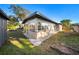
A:
<svg viewBox="0 0 79 59">
<path fill-rule="evenodd" d="M 79 5 L 78 4 L 20 4 L 23 8 L 31 12 L 39 11 L 49 19 L 60 22 L 63 19 L 71 19 L 74 23 L 79 23 Z M 11 15 L 9 4 L 0 4 L 6 14 Z"/>
</svg>

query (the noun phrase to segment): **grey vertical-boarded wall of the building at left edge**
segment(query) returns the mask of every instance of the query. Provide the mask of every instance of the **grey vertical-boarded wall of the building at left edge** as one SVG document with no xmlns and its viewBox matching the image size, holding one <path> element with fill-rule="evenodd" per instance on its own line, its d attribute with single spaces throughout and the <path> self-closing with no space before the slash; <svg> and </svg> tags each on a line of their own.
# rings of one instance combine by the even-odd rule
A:
<svg viewBox="0 0 79 59">
<path fill-rule="evenodd" d="M 7 39 L 7 20 L 0 18 L 0 46 L 5 42 Z"/>
</svg>

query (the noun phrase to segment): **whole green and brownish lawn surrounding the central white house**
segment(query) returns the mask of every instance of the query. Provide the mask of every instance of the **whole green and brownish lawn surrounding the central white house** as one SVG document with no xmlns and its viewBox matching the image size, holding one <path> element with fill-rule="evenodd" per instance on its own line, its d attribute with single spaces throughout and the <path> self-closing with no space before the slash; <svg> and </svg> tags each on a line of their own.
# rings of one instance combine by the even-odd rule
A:
<svg viewBox="0 0 79 59">
<path fill-rule="evenodd" d="M 64 43 L 79 49 L 78 33 L 63 33 L 52 35 L 40 46 L 33 46 L 29 40 L 22 34 L 21 30 L 8 31 L 8 41 L 0 48 L 1 55 L 57 55 L 59 52 L 50 48 L 53 44 Z"/>
</svg>

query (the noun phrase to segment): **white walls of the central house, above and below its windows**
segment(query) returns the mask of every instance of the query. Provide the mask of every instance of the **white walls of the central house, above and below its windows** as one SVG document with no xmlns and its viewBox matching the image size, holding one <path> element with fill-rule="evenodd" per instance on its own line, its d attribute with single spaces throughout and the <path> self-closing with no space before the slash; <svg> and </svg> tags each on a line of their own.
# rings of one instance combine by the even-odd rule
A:
<svg viewBox="0 0 79 59">
<path fill-rule="evenodd" d="M 45 36 L 48 36 L 50 34 L 54 34 L 54 33 L 57 33 L 59 31 L 59 27 L 58 30 L 56 28 L 56 26 L 58 26 L 57 24 L 54 24 L 54 23 L 50 23 L 48 21 L 44 21 L 42 19 L 39 19 L 39 18 L 35 18 L 33 20 L 29 20 L 25 23 L 25 26 L 26 24 L 29 24 L 29 25 L 35 25 L 35 28 L 37 28 L 37 23 L 40 22 L 41 25 L 45 25 L 45 26 L 48 26 L 48 32 L 44 32 L 44 31 L 40 31 L 40 32 L 31 32 L 31 31 L 28 31 L 28 32 L 24 32 L 24 35 L 27 36 L 28 38 L 30 39 L 39 39 L 40 37 L 45 37 Z"/>
</svg>

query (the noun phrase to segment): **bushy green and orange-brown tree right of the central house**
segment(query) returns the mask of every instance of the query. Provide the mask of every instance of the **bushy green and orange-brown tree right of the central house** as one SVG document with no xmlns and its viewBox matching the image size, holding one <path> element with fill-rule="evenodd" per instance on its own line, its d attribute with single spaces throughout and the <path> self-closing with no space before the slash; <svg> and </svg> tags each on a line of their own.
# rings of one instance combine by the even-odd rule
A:
<svg viewBox="0 0 79 59">
<path fill-rule="evenodd" d="M 70 29 L 71 29 L 71 20 L 70 19 L 64 19 L 60 22 L 63 26 L 64 31 L 70 31 Z"/>
</svg>

